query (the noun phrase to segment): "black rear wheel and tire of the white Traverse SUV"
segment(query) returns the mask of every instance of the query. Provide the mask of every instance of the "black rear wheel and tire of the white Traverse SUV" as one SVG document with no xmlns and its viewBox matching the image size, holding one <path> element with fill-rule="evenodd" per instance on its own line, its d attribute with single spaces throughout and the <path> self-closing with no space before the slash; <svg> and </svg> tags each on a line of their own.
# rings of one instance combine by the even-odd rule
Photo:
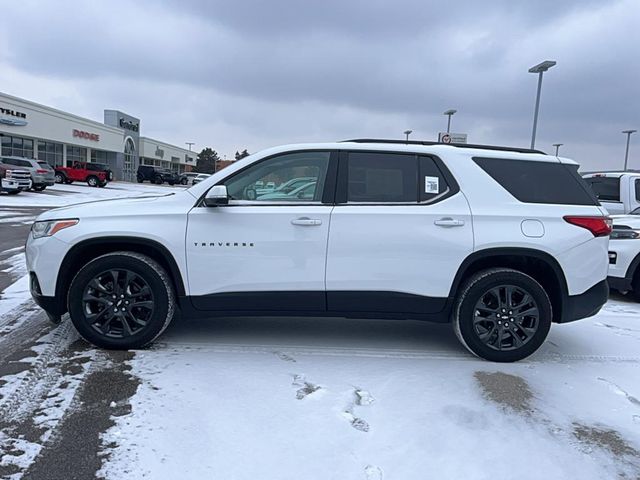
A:
<svg viewBox="0 0 640 480">
<path fill-rule="evenodd" d="M 474 355 L 515 362 L 535 352 L 551 328 L 551 301 L 532 277 L 492 268 L 469 278 L 453 308 L 454 331 Z"/>
</svg>

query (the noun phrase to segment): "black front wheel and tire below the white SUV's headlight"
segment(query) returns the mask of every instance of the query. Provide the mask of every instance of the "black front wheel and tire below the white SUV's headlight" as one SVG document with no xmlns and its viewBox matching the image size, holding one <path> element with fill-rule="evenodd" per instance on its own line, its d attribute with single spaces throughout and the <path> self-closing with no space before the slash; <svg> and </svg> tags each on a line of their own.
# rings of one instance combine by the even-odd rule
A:
<svg viewBox="0 0 640 480">
<path fill-rule="evenodd" d="M 71 282 L 69 315 L 88 342 L 107 349 L 142 348 L 169 325 L 175 294 L 166 271 L 134 252 L 87 263 Z"/>
</svg>

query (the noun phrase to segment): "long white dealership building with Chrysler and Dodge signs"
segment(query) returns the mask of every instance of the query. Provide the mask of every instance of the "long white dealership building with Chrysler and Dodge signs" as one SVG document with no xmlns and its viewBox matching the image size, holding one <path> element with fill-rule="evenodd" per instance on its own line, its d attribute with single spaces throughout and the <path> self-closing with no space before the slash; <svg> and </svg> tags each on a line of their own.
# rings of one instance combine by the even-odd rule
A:
<svg viewBox="0 0 640 480">
<path fill-rule="evenodd" d="M 138 165 L 188 172 L 196 164 L 195 152 L 141 136 L 140 119 L 119 110 L 105 110 L 101 123 L 2 92 L 0 141 L 2 156 L 106 163 L 116 180 L 135 181 Z"/>
</svg>

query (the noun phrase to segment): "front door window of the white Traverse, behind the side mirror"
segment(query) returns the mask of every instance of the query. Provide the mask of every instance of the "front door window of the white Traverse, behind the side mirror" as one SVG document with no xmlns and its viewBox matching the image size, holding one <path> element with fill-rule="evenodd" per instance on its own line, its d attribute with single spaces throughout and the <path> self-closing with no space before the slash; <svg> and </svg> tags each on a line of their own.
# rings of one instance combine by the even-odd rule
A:
<svg viewBox="0 0 640 480">
<path fill-rule="evenodd" d="M 330 155 L 330 152 L 279 155 L 237 173 L 224 185 L 231 200 L 320 202 Z"/>
</svg>

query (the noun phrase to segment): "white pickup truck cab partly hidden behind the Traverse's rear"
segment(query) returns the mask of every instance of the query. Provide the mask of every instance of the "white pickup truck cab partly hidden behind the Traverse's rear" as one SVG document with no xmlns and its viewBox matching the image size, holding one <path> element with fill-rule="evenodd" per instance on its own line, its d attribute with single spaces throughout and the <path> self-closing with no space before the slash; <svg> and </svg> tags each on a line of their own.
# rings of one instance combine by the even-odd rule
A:
<svg viewBox="0 0 640 480">
<path fill-rule="evenodd" d="M 586 173 L 582 178 L 611 215 L 640 208 L 640 172 Z"/>
</svg>

